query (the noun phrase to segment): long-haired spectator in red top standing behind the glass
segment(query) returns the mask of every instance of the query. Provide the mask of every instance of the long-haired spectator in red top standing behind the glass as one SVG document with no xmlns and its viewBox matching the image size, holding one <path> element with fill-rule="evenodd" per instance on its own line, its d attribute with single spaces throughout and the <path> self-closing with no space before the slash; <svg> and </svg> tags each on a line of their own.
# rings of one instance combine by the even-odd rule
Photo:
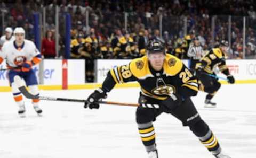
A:
<svg viewBox="0 0 256 158">
<path fill-rule="evenodd" d="M 50 30 L 46 31 L 45 38 L 42 40 L 41 54 L 46 59 L 56 57 L 55 41 L 53 39 L 53 32 Z"/>
</svg>

